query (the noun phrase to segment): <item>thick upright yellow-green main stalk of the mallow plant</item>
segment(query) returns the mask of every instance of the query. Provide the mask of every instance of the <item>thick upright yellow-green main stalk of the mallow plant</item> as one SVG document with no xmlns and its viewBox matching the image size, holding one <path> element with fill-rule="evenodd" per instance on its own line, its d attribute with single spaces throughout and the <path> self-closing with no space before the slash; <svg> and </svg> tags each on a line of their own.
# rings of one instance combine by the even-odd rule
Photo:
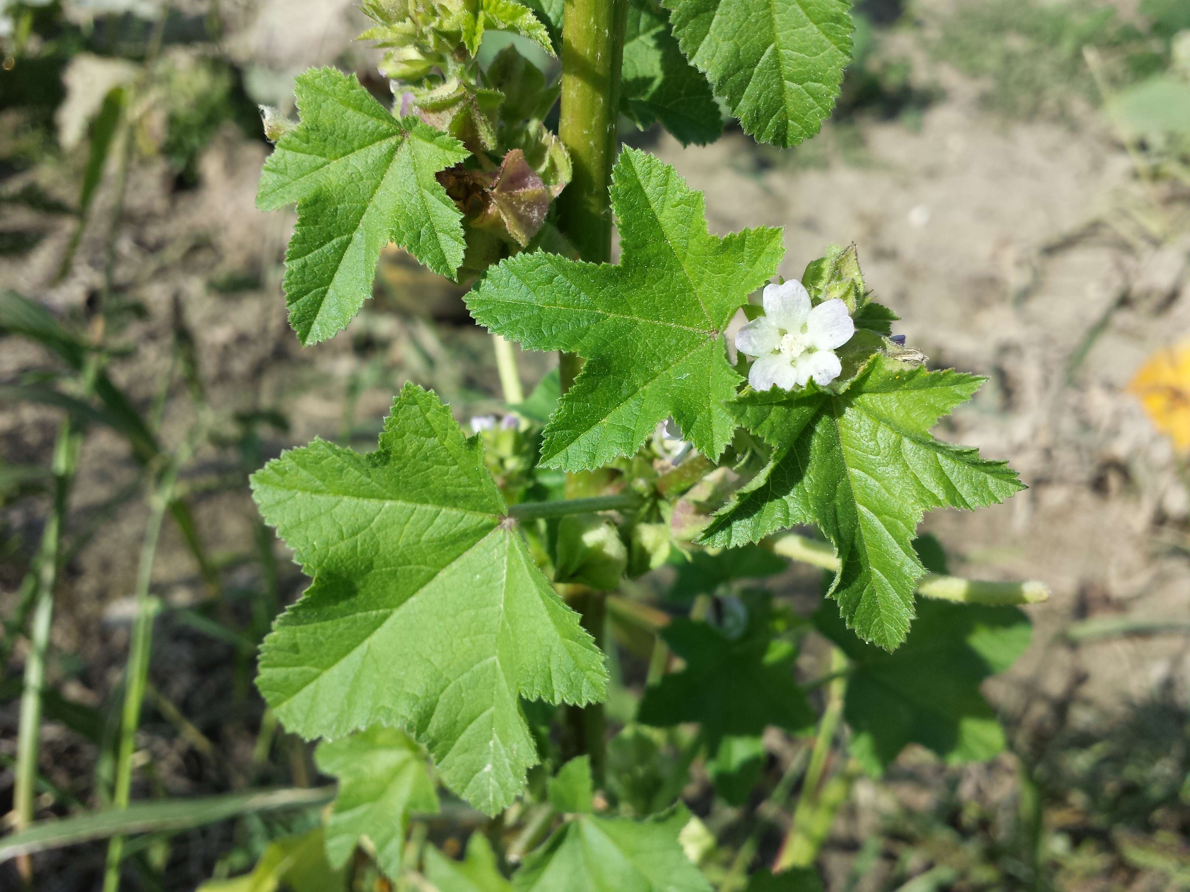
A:
<svg viewBox="0 0 1190 892">
<path fill-rule="evenodd" d="M 590 263 L 612 259 L 612 165 L 615 163 L 620 107 L 620 67 L 627 0 L 566 0 L 562 27 L 562 118 L 558 136 L 574 165 L 559 196 L 563 233 Z M 578 375 L 582 359 L 558 357 L 562 390 Z M 569 489 L 569 486 L 568 486 Z M 577 588 L 577 586 L 576 586 Z M 583 628 L 603 648 L 605 595 L 569 592 Z M 589 755 L 596 783 L 603 775 L 603 706 L 568 708 L 563 745 L 566 756 Z"/>
</svg>

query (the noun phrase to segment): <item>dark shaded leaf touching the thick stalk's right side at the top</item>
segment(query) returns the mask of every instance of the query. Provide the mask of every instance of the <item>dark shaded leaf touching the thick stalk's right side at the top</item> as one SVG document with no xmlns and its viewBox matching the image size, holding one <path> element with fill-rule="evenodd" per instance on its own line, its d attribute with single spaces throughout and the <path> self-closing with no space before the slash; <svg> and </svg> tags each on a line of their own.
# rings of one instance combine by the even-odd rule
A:
<svg viewBox="0 0 1190 892">
<path fill-rule="evenodd" d="M 647 0 L 628 6 L 620 111 L 641 130 L 660 121 L 682 145 L 706 145 L 724 132 L 710 84 L 682 56 L 669 15 Z"/>
</svg>

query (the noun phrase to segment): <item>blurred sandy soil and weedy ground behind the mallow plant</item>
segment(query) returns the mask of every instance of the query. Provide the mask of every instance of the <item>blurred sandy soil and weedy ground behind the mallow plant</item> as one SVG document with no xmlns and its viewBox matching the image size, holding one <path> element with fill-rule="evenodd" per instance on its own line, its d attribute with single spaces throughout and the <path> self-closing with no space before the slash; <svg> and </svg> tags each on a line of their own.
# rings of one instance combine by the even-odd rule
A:
<svg viewBox="0 0 1190 892">
<path fill-rule="evenodd" d="M 988 689 L 1010 752 L 956 768 L 910 749 L 857 781 L 829 828 L 827 885 L 1188 887 L 1190 2 L 856 10 L 856 59 L 813 142 L 781 151 L 729 131 L 683 153 L 621 131 L 707 190 L 713 230 L 788 224 L 785 275 L 857 241 L 933 363 L 990 376 L 956 439 L 1032 486 L 931 527 L 964 544 L 953 564 L 1054 589 L 1031 608 L 1029 654 Z M 499 404 L 461 289 L 402 252 L 386 253 L 349 337 L 303 351 L 286 325 L 293 218 L 253 208 L 269 151 L 257 106 L 290 113 L 311 64 L 357 71 L 384 99 L 359 30 L 331 0 L 0 6 L 0 811 L 31 659 L 46 685 L 36 816 L 108 804 L 138 598 L 155 618 L 133 799 L 317 790 L 309 748 L 251 685 L 256 645 L 302 578 L 246 477 L 315 434 L 367 448 L 406 379 L 461 419 Z M 552 360 L 519 362 L 532 385 Z M 56 608 L 38 643 L 46 572 Z M 814 572 L 768 582 L 813 609 Z M 627 646 L 620 661 L 613 717 L 632 715 L 647 670 Z M 797 740 L 765 742 L 754 802 L 712 809 L 681 740 L 639 728 L 613 743 L 613 783 L 646 798 L 683 786 L 714 836 L 701 856 L 734 888 L 740 852 L 745 867 L 771 859 L 788 823 L 756 804 L 804 756 Z M 315 827 L 315 799 L 149 828 L 129 843 L 130 881 L 240 873 Z M 447 853 L 468 833 L 426 828 Z M 37 855 L 37 887 L 98 888 L 104 856 L 99 842 Z M 0 863 L 0 886 L 19 887 L 15 867 Z"/>
</svg>

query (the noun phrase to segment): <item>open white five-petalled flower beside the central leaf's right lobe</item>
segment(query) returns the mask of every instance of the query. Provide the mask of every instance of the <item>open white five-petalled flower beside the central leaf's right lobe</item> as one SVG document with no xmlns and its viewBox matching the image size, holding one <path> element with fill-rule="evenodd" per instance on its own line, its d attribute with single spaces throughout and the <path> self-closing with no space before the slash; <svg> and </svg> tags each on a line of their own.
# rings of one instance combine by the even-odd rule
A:
<svg viewBox="0 0 1190 892">
<path fill-rule="evenodd" d="M 796 279 L 765 285 L 762 302 L 765 315 L 735 335 L 735 348 L 756 357 L 749 384 L 757 390 L 774 384 L 793 390 L 810 378 L 826 387 L 839 377 L 843 365 L 834 351 L 856 333 L 846 303 L 834 299 L 812 309 L 809 294 Z"/>
</svg>

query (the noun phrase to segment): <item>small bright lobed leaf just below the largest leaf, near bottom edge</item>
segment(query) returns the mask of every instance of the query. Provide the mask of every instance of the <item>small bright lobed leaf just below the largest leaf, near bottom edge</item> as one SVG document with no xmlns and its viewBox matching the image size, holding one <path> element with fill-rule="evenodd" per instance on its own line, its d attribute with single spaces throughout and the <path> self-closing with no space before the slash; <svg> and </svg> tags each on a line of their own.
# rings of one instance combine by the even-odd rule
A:
<svg viewBox="0 0 1190 892">
<path fill-rule="evenodd" d="M 339 793 L 326 822 L 326 858 L 343 867 L 359 837 L 376 848 L 389 877 L 401 872 L 405 825 L 411 811 L 438 811 L 438 794 L 426 773 L 421 748 L 396 728 L 376 725 L 314 750 L 314 761 L 339 779 Z"/>
</svg>

